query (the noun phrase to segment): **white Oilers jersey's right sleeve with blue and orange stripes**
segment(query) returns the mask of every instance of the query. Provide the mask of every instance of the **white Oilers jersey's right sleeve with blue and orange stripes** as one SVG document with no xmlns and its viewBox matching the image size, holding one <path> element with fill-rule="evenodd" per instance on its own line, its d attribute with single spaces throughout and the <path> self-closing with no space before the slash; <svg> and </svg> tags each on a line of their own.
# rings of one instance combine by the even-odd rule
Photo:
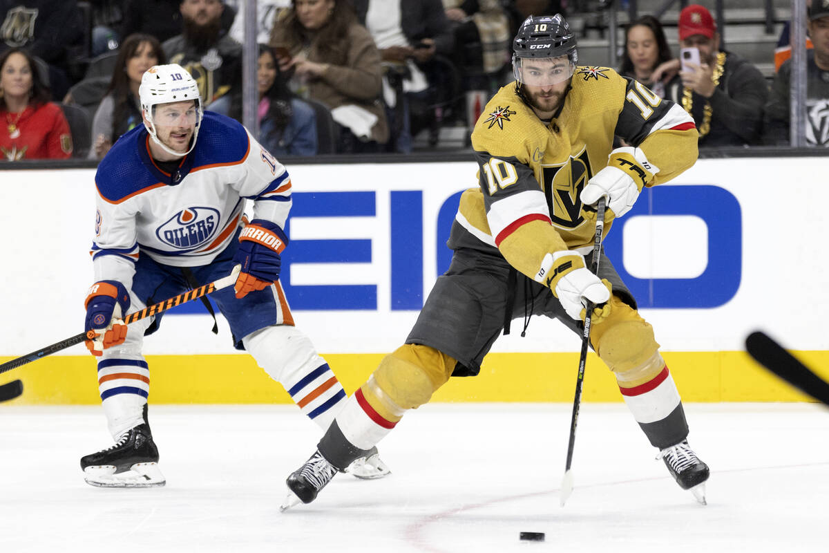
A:
<svg viewBox="0 0 829 553">
<path fill-rule="evenodd" d="M 234 187 L 239 195 L 253 201 L 253 218 L 271 221 L 285 228 L 291 210 L 291 177 L 282 163 L 248 133 L 250 153 L 245 159 L 244 177 Z"/>
</svg>

